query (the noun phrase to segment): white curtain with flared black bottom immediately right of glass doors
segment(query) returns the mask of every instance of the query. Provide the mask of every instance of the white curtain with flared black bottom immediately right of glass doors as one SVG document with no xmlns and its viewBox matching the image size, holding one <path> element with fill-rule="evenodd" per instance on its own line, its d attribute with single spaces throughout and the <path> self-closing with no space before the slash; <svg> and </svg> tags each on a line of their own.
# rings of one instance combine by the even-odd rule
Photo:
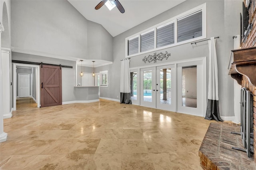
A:
<svg viewBox="0 0 256 170">
<path fill-rule="evenodd" d="M 222 121 L 219 111 L 219 91 L 218 91 L 218 64 L 216 54 L 216 40 L 210 38 L 209 43 L 209 84 L 208 84 L 208 101 L 206 116 L 204 119 Z"/>
</svg>

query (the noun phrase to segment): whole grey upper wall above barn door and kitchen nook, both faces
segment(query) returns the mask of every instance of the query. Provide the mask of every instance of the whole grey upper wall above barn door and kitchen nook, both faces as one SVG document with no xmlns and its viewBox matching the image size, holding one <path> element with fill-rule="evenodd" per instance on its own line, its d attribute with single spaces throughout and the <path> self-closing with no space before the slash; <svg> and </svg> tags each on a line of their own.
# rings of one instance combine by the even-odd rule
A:
<svg viewBox="0 0 256 170">
<path fill-rule="evenodd" d="M 113 37 L 66 0 L 12 1 L 12 34 L 15 52 L 73 61 L 113 60 Z"/>
</svg>

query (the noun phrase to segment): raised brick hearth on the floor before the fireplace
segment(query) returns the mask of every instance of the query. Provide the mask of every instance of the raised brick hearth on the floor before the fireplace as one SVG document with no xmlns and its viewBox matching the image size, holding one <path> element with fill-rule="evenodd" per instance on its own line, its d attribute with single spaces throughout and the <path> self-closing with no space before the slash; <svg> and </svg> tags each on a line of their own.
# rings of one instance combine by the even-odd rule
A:
<svg viewBox="0 0 256 170">
<path fill-rule="evenodd" d="M 244 148 L 240 125 L 234 123 L 210 123 L 199 149 L 200 165 L 204 170 L 255 170 L 253 156 L 232 147 Z"/>
</svg>

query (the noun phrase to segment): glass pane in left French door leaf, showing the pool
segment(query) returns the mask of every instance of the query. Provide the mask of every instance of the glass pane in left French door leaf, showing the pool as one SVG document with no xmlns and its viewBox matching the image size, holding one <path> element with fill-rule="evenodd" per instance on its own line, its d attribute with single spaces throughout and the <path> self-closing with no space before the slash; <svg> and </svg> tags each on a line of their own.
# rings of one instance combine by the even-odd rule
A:
<svg viewBox="0 0 256 170">
<path fill-rule="evenodd" d="M 143 71 L 143 101 L 152 102 L 152 70 Z"/>
</svg>

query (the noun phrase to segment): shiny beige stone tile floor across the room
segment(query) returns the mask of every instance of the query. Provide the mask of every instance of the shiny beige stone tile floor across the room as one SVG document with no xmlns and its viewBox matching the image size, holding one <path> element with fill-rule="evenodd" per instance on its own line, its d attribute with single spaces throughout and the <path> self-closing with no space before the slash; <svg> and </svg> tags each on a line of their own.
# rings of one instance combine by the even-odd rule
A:
<svg viewBox="0 0 256 170">
<path fill-rule="evenodd" d="M 114 101 L 36 108 L 23 98 L 4 119 L 0 169 L 200 170 L 210 122 Z"/>
</svg>

